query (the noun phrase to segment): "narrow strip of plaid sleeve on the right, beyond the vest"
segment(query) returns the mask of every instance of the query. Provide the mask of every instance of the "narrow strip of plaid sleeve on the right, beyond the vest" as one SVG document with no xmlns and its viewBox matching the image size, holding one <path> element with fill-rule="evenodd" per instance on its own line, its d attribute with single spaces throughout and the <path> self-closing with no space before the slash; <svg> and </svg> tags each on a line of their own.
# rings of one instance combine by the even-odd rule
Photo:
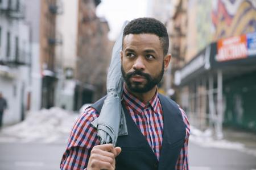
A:
<svg viewBox="0 0 256 170">
<path fill-rule="evenodd" d="M 181 115 L 183 118 L 183 121 L 185 123 L 185 129 L 186 129 L 186 136 L 185 136 L 185 142 L 183 144 L 183 147 L 181 148 L 180 155 L 177 159 L 176 163 L 176 170 L 188 170 L 188 138 L 190 135 L 190 125 L 188 122 L 188 117 L 185 114 L 185 111 L 179 107 L 181 111 Z"/>
</svg>

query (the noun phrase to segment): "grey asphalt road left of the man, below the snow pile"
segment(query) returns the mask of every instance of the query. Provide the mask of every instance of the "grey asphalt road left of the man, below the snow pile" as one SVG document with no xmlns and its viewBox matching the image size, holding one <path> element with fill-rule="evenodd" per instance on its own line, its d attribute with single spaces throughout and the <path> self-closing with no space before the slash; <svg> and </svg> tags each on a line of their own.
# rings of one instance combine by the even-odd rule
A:
<svg viewBox="0 0 256 170">
<path fill-rule="evenodd" d="M 1 170 L 56 170 L 65 144 L 0 143 Z"/>
</svg>

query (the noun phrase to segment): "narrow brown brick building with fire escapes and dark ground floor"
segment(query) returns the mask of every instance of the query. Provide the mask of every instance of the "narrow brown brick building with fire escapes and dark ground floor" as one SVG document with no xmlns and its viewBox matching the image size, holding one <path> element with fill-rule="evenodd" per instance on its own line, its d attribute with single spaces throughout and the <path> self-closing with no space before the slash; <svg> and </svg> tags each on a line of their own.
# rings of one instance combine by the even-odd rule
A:
<svg viewBox="0 0 256 170">
<path fill-rule="evenodd" d="M 62 44 L 62 35 L 56 32 L 56 15 L 63 13 L 61 1 L 41 1 L 40 5 L 40 70 L 42 73 L 42 107 L 55 105 L 56 45 Z"/>
</svg>

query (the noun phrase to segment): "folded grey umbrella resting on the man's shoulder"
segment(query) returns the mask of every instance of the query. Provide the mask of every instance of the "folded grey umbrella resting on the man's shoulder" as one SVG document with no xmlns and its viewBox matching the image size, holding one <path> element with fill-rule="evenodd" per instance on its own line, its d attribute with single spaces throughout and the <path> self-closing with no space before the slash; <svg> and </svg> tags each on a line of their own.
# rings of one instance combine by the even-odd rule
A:
<svg viewBox="0 0 256 170">
<path fill-rule="evenodd" d="M 113 51 L 112 60 L 107 76 L 107 97 L 102 106 L 100 116 L 91 124 L 97 128 L 98 138 L 101 144 L 117 142 L 118 135 L 127 135 L 127 126 L 125 114 L 121 105 L 121 95 L 123 90 L 123 77 L 121 73 L 121 57 L 123 29 L 129 22 L 125 22 L 122 27 L 121 34 L 116 40 Z"/>
</svg>

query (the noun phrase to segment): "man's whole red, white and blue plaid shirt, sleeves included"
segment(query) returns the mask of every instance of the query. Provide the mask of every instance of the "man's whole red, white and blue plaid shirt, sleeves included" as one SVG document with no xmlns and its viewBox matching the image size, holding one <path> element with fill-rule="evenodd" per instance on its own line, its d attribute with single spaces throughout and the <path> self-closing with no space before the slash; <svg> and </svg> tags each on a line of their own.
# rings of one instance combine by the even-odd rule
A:
<svg viewBox="0 0 256 170">
<path fill-rule="evenodd" d="M 159 160 L 163 140 L 163 110 L 158 93 L 149 102 L 144 103 L 124 88 L 123 101 L 133 121 Z M 185 112 L 181 108 L 180 111 L 186 127 L 186 137 L 176 163 L 176 170 L 188 170 L 189 122 Z M 90 122 L 94 121 L 98 115 L 96 110 L 89 107 L 77 120 L 69 137 L 68 147 L 61 159 L 60 169 L 86 169 L 90 151 L 94 146 L 100 144 L 97 130 L 90 125 Z"/>
</svg>

